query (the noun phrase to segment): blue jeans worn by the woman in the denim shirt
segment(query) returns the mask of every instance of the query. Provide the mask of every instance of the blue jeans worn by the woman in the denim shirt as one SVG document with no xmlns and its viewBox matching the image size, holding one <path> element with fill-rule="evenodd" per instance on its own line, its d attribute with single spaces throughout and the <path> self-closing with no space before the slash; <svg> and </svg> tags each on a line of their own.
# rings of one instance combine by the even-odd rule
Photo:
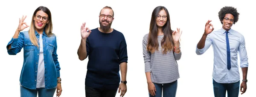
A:
<svg viewBox="0 0 256 97">
<path fill-rule="evenodd" d="M 20 97 L 53 97 L 55 93 L 55 89 L 45 89 L 45 88 L 37 88 L 37 89 L 27 89 L 23 86 L 20 86 Z"/>
</svg>

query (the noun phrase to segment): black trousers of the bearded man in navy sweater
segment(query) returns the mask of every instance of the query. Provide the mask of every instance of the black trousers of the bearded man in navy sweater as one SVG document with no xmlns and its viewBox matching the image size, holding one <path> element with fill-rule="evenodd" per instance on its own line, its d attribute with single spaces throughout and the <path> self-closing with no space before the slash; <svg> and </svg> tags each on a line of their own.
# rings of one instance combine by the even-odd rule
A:
<svg viewBox="0 0 256 97">
<path fill-rule="evenodd" d="M 115 97 L 117 89 L 95 89 L 85 86 L 85 97 Z"/>
</svg>

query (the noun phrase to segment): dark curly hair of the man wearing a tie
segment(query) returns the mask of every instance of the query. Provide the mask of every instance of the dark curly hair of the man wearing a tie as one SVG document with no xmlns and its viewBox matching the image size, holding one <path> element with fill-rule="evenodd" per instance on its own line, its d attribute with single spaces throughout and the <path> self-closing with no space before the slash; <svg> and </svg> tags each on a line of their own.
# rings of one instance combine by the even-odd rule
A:
<svg viewBox="0 0 256 97">
<path fill-rule="evenodd" d="M 222 21 L 225 17 L 226 14 L 232 14 L 234 16 L 234 24 L 238 21 L 239 19 L 239 13 L 237 12 L 236 8 L 231 7 L 231 6 L 225 6 L 221 8 L 221 11 L 218 12 L 218 17 L 220 21 Z M 223 24 L 223 22 L 221 22 Z"/>
</svg>

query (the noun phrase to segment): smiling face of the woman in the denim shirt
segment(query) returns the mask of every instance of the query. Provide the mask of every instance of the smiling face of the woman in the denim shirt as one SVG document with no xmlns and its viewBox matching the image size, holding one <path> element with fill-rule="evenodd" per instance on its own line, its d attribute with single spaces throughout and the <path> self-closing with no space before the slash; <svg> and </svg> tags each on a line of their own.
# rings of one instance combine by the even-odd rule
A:
<svg viewBox="0 0 256 97">
<path fill-rule="evenodd" d="M 41 10 L 36 12 L 33 20 L 37 32 L 43 32 L 45 25 L 49 23 L 48 15 Z"/>
</svg>

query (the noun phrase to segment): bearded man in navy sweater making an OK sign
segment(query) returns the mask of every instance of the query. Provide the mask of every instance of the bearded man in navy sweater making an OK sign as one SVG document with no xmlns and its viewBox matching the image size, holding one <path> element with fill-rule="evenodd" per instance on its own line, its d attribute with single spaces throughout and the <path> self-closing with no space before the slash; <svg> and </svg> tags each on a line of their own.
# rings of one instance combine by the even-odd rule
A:
<svg viewBox="0 0 256 97">
<path fill-rule="evenodd" d="M 111 28 L 113 20 L 112 8 L 105 6 L 99 14 L 99 28 L 85 28 L 85 22 L 81 25 L 81 44 L 77 53 L 81 61 L 89 57 L 86 97 L 115 97 L 117 90 L 123 97 L 127 91 L 127 46 L 124 35 Z"/>
</svg>

